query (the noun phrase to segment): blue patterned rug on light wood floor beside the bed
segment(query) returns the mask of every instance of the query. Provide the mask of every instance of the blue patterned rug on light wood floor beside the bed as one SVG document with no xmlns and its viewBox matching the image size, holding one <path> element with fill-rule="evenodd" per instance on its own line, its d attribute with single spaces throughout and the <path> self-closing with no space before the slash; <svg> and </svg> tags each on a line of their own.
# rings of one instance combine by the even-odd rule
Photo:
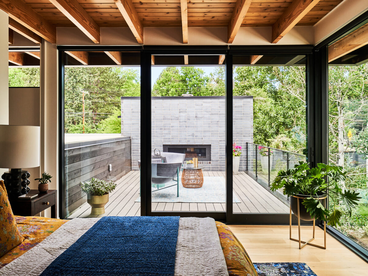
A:
<svg viewBox="0 0 368 276">
<path fill-rule="evenodd" d="M 258 276 L 317 276 L 305 263 L 253 263 Z"/>
</svg>

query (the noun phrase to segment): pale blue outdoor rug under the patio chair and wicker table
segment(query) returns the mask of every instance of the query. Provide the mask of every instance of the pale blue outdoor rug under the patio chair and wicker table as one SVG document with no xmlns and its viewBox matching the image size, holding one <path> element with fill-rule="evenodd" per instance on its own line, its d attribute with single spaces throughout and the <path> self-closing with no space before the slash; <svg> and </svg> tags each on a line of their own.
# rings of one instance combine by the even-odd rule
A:
<svg viewBox="0 0 368 276">
<path fill-rule="evenodd" d="M 166 186 L 174 185 L 171 181 Z M 152 189 L 153 190 L 153 189 Z M 152 193 L 152 202 L 197 202 L 197 203 L 225 203 L 225 178 L 222 176 L 206 176 L 201 188 L 184 188 L 179 178 L 179 197 L 177 186 Z M 138 197 L 135 202 L 141 202 Z M 233 203 L 240 203 L 239 198 L 233 192 Z"/>
</svg>

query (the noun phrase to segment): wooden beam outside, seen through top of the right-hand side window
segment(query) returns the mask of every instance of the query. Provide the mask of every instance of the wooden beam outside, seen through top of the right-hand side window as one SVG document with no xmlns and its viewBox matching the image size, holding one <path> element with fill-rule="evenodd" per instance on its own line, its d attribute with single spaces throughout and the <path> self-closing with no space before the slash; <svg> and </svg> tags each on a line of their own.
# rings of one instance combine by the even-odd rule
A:
<svg viewBox="0 0 368 276">
<path fill-rule="evenodd" d="M 367 44 L 368 25 L 364 25 L 328 47 L 328 62 L 338 59 Z"/>
</svg>

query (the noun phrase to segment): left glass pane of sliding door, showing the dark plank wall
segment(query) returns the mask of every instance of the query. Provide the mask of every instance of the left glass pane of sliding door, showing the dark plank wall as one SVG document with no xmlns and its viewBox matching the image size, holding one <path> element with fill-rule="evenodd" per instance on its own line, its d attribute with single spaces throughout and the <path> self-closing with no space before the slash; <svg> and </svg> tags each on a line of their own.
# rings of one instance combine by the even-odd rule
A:
<svg viewBox="0 0 368 276">
<path fill-rule="evenodd" d="M 132 163 L 132 158 L 140 158 L 139 56 L 65 54 L 64 208 L 68 218 L 140 215 L 139 170 L 137 162 Z M 127 105 L 125 99 L 134 99 L 134 104 Z M 94 198 L 81 190 L 79 183 L 92 178 L 116 184 L 104 208 L 91 209 Z"/>
</svg>

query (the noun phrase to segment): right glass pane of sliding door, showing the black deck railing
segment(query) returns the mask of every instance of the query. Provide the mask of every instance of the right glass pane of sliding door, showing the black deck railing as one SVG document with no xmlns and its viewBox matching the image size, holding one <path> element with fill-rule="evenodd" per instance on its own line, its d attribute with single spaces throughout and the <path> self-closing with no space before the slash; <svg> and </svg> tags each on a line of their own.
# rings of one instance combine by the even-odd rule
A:
<svg viewBox="0 0 368 276">
<path fill-rule="evenodd" d="M 269 185 L 306 161 L 305 56 L 233 58 L 234 213 L 289 213 Z"/>
</svg>

